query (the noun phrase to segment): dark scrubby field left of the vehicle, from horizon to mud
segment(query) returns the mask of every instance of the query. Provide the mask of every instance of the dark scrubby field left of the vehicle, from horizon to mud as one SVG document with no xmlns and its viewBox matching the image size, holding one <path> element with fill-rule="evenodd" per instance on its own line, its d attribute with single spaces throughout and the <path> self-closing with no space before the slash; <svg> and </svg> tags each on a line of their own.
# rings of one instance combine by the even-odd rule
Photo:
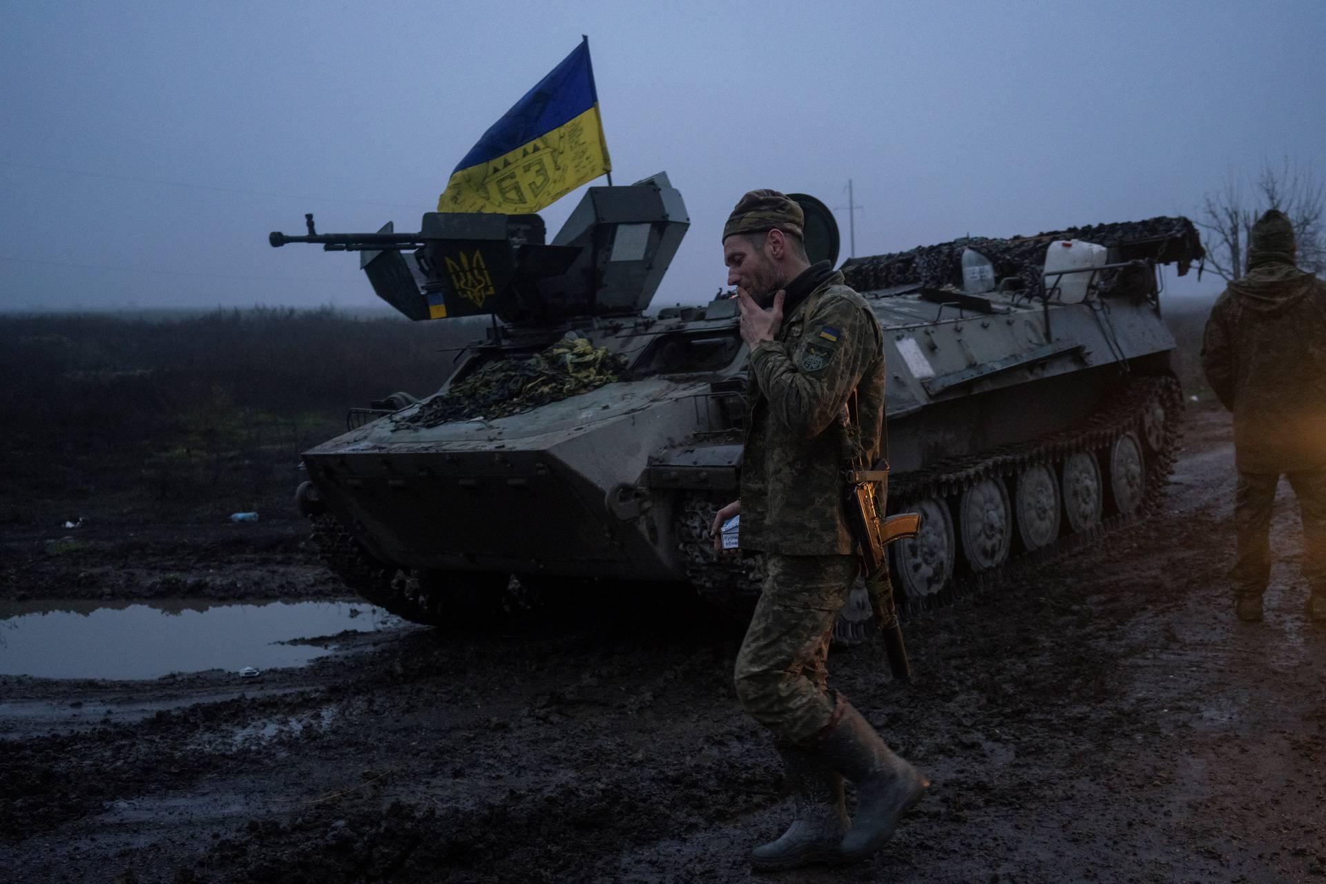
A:
<svg viewBox="0 0 1326 884">
<path fill-rule="evenodd" d="M 273 465 L 293 468 L 300 451 L 343 428 L 351 406 L 435 391 L 451 349 L 483 334 L 481 322 L 333 309 L 0 315 L 11 467 L 0 522 L 25 521 L 13 502 L 25 497 L 106 500 L 111 486 L 142 492 L 131 509 L 223 489 L 232 500 L 221 506 L 256 505 L 269 485 L 286 500 L 292 476 L 277 478 Z"/>
</svg>

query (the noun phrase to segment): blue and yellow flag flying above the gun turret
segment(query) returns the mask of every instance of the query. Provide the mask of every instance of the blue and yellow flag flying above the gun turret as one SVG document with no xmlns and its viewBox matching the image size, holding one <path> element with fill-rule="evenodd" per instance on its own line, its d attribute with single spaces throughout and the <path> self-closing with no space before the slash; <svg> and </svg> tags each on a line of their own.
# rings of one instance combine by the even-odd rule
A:
<svg viewBox="0 0 1326 884">
<path fill-rule="evenodd" d="M 610 171 L 586 40 L 465 154 L 438 211 L 537 212 Z"/>
</svg>

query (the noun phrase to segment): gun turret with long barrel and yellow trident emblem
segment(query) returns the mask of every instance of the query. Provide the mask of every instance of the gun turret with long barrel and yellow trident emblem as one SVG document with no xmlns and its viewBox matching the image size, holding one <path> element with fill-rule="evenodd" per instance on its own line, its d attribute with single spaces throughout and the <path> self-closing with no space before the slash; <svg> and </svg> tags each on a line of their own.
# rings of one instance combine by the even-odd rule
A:
<svg viewBox="0 0 1326 884">
<path fill-rule="evenodd" d="M 545 244 L 538 215 L 427 212 L 418 233 L 273 232 L 272 247 L 359 252 L 373 290 L 411 319 L 496 313 L 508 322 L 639 314 L 690 227 L 682 195 L 659 174 L 591 187 Z"/>
</svg>

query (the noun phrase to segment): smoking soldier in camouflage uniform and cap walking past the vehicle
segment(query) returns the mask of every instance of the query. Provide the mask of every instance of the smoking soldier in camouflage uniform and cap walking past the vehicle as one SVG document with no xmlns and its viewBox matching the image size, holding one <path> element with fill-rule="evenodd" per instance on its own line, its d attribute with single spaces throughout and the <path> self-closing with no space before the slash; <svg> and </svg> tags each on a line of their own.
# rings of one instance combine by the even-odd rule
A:
<svg viewBox="0 0 1326 884">
<path fill-rule="evenodd" d="M 843 506 L 845 453 L 879 457 L 883 333 L 829 261 L 812 265 L 801 207 L 777 191 L 741 197 L 723 229 L 751 347 L 740 545 L 768 577 L 736 663 L 743 708 L 768 728 L 788 771 L 796 818 L 757 847 L 757 868 L 851 863 L 874 854 L 928 785 L 842 694 L 826 685 L 834 619 L 858 571 Z M 849 407 L 859 439 L 847 432 Z M 849 824 L 843 778 L 857 789 Z"/>
</svg>

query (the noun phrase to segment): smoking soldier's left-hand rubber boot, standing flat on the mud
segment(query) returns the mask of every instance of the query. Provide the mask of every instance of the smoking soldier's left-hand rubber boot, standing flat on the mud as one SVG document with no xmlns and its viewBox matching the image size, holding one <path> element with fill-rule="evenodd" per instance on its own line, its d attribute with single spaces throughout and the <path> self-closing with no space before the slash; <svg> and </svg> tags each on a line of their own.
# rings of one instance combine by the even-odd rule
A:
<svg viewBox="0 0 1326 884">
<path fill-rule="evenodd" d="M 780 869 L 833 861 L 847 831 L 842 777 L 790 744 L 778 745 L 778 757 L 792 790 L 792 826 L 778 840 L 751 851 L 751 864 L 757 869 Z"/>
</svg>

